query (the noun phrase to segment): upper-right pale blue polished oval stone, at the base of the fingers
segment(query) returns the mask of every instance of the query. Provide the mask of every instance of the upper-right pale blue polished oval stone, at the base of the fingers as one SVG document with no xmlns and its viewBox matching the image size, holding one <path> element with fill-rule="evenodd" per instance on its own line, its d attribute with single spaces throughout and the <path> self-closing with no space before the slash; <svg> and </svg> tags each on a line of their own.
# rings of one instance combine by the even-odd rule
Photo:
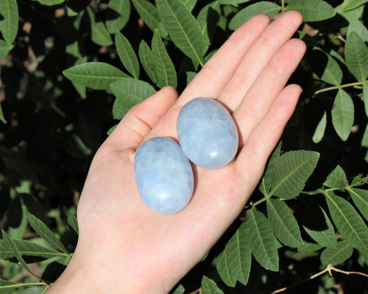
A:
<svg viewBox="0 0 368 294">
<path fill-rule="evenodd" d="M 233 117 L 220 102 L 209 98 L 195 98 L 182 107 L 177 137 L 188 159 L 202 168 L 226 166 L 238 151 Z"/>
</svg>

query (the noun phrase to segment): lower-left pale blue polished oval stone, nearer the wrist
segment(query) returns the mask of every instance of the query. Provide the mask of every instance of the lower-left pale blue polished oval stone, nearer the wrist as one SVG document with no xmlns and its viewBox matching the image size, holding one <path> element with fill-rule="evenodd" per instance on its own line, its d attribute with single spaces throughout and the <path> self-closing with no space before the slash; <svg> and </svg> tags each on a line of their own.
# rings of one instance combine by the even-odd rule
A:
<svg viewBox="0 0 368 294">
<path fill-rule="evenodd" d="M 191 200 L 193 170 L 173 139 L 144 141 L 135 153 L 134 174 L 143 201 L 159 213 L 176 213 Z"/>
</svg>

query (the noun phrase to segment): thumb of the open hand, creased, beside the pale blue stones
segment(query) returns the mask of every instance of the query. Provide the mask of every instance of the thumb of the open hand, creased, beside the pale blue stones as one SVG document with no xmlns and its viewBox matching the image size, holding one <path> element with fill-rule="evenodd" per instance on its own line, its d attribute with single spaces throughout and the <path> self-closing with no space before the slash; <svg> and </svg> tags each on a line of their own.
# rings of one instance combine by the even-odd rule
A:
<svg viewBox="0 0 368 294">
<path fill-rule="evenodd" d="M 133 106 L 106 139 L 105 144 L 114 146 L 115 150 L 137 149 L 159 119 L 173 106 L 177 97 L 175 88 L 166 86 Z"/>
</svg>

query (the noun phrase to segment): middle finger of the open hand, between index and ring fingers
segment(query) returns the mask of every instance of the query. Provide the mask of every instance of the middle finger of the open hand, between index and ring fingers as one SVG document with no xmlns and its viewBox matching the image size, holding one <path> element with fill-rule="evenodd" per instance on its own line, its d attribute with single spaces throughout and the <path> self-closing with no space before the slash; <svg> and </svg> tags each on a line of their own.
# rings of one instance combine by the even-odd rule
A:
<svg viewBox="0 0 368 294">
<path fill-rule="evenodd" d="M 289 11 L 275 19 L 252 44 L 218 100 L 235 110 L 276 52 L 287 42 L 303 21 L 302 14 Z"/>
</svg>

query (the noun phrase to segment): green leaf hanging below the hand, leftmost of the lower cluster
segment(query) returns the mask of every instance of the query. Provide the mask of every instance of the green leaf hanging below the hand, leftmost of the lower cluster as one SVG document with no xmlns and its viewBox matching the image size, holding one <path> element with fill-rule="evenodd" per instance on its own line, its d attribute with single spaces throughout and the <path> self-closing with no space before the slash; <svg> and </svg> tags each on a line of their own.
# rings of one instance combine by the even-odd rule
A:
<svg viewBox="0 0 368 294">
<path fill-rule="evenodd" d="M 237 280 L 244 285 L 248 282 L 252 256 L 245 229 L 243 223 L 216 257 L 217 272 L 227 286 L 234 287 Z"/>
</svg>

